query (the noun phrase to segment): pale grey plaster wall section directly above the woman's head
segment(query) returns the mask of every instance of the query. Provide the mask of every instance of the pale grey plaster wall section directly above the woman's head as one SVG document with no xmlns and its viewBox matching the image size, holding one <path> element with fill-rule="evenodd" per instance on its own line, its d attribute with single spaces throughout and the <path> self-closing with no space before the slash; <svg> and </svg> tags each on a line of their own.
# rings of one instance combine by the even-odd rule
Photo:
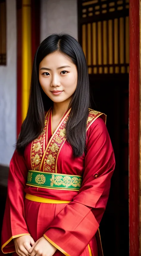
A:
<svg viewBox="0 0 141 256">
<path fill-rule="evenodd" d="M 41 0 L 40 40 L 60 32 L 78 40 L 77 0 Z"/>
</svg>

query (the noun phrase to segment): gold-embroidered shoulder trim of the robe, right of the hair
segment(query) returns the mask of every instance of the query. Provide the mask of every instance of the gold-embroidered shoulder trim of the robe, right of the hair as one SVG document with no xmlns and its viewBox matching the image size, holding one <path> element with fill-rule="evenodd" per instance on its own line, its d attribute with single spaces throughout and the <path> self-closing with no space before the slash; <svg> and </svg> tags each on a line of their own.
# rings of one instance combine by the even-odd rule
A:
<svg viewBox="0 0 141 256">
<path fill-rule="evenodd" d="M 95 122 L 96 119 L 99 119 L 99 117 L 101 117 L 101 119 L 103 119 L 103 121 L 106 123 L 106 115 L 104 113 L 89 108 L 89 115 L 87 119 L 87 130 Z"/>
</svg>

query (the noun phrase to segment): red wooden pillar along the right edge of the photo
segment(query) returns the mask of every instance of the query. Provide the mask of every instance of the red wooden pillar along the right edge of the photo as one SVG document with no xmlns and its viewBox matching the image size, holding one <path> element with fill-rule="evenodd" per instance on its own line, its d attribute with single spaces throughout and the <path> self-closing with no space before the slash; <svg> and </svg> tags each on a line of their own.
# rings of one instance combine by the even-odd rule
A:
<svg viewBox="0 0 141 256">
<path fill-rule="evenodd" d="M 140 256 L 140 0 L 129 2 L 129 244 Z"/>
</svg>

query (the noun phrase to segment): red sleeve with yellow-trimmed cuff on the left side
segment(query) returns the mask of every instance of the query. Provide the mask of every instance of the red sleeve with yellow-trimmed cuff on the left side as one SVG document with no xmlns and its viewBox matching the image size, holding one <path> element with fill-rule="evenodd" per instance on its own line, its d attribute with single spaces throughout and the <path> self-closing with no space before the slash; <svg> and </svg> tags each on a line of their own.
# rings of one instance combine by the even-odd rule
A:
<svg viewBox="0 0 141 256">
<path fill-rule="evenodd" d="M 15 151 L 10 162 L 7 200 L 1 233 L 3 253 L 15 252 L 13 238 L 29 235 L 24 219 L 24 188 L 27 173 L 28 169 L 23 156 Z"/>
</svg>

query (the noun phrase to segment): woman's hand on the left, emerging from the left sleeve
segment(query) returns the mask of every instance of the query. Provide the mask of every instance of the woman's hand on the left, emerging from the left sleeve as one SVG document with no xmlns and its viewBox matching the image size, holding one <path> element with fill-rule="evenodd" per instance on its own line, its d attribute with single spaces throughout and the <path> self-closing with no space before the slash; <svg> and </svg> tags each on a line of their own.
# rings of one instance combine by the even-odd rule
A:
<svg viewBox="0 0 141 256">
<path fill-rule="evenodd" d="M 29 256 L 29 249 L 35 244 L 33 238 L 30 235 L 16 237 L 13 239 L 15 243 L 16 253 L 19 256 Z"/>
</svg>

